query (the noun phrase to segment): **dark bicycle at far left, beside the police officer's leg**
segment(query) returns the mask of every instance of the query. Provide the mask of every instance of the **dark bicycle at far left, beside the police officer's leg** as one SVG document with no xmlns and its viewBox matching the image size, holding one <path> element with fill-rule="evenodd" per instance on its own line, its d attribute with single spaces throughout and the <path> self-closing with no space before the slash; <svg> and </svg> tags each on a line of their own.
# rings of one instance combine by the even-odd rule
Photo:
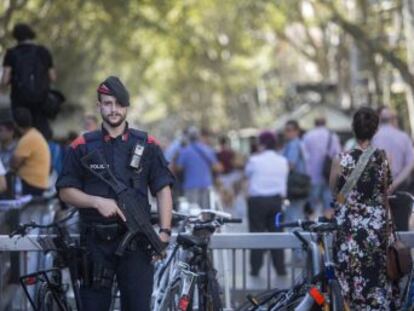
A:
<svg viewBox="0 0 414 311">
<path fill-rule="evenodd" d="M 76 309 L 81 310 L 79 294 L 79 265 L 82 264 L 82 248 L 78 242 L 73 239 L 65 226 L 65 223 L 71 219 L 76 209 L 71 209 L 64 218 L 47 225 L 39 225 L 35 222 L 18 226 L 10 234 L 10 237 L 21 235 L 25 236 L 30 229 L 52 229 L 55 236 L 39 237 L 39 245 L 45 252 L 54 252 L 53 267 L 47 270 L 41 270 L 20 277 L 20 284 L 24 293 L 29 300 L 34 311 L 71 311 L 67 293 L 70 288 L 73 289 Z M 70 283 L 63 282 L 64 269 L 69 270 Z M 30 294 L 29 288 L 34 288 L 34 295 Z"/>
</svg>

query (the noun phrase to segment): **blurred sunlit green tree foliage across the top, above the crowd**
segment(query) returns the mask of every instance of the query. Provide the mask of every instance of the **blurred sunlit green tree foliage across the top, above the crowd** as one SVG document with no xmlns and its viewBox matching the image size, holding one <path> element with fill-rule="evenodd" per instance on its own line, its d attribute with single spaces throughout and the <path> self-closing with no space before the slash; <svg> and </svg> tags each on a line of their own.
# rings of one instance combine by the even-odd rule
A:
<svg viewBox="0 0 414 311">
<path fill-rule="evenodd" d="M 397 8 L 400 3 L 384 2 Z M 58 87 L 73 104 L 92 109 L 96 85 L 116 74 L 133 95 L 138 122 L 156 126 L 170 120 L 176 128 L 194 122 L 216 129 L 266 126 L 284 111 L 285 90 L 303 79 L 300 59 L 317 66 L 314 81 L 341 75 L 335 70 L 347 63 L 341 57 L 349 53 L 352 37 L 338 22 L 338 16 L 348 18 L 343 3 L 8 0 L 0 2 L 0 52 L 13 44 L 13 24 L 24 21 L 52 50 Z M 357 12 L 367 15 L 348 21 L 370 38 L 384 38 L 392 25 L 390 13 L 368 0 L 355 3 Z M 331 42 L 333 35 L 339 43 Z M 359 43 L 365 39 L 353 37 Z M 406 57 L 401 44 L 385 43 L 384 49 Z M 374 57 L 371 52 L 367 59 Z M 258 100 L 258 88 L 265 101 Z"/>
</svg>

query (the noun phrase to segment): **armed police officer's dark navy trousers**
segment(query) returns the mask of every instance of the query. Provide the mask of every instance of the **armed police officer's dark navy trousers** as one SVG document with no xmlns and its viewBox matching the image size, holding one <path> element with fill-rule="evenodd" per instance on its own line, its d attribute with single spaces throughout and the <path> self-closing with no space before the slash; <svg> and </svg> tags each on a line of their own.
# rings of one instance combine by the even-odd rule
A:
<svg viewBox="0 0 414 311">
<path fill-rule="evenodd" d="M 91 228 L 91 227 L 89 227 Z M 122 311 L 150 311 L 154 268 L 151 257 L 142 247 L 127 250 L 122 257 L 115 255 L 122 235 L 97 234 L 83 225 L 81 244 L 86 248 L 91 263 L 89 275 L 96 275 L 93 269 L 104 267 L 114 272 L 121 294 Z M 112 302 L 112 284 L 106 286 L 83 284 L 80 288 L 83 311 L 106 311 Z"/>
</svg>

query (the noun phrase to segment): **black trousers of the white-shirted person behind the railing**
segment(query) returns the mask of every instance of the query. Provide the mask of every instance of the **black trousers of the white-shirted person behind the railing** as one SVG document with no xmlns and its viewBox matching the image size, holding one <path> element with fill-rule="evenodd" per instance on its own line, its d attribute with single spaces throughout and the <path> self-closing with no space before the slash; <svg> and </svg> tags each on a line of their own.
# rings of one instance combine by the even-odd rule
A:
<svg viewBox="0 0 414 311">
<path fill-rule="evenodd" d="M 250 197 L 247 200 L 250 232 L 281 232 L 275 227 L 275 215 L 281 211 L 282 198 L 280 196 Z M 257 275 L 263 265 L 264 249 L 255 249 L 250 252 L 251 274 Z M 284 275 L 285 257 L 282 249 L 271 251 L 273 266 L 279 275 Z"/>
</svg>

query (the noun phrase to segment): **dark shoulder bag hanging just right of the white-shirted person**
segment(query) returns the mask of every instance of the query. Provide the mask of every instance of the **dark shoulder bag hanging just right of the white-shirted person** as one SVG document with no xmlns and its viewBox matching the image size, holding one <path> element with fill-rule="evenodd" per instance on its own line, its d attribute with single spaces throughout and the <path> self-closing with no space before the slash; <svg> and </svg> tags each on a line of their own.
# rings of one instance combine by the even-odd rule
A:
<svg viewBox="0 0 414 311">
<path fill-rule="evenodd" d="M 300 148 L 300 159 L 304 160 L 303 150 Z M 311 191 L 311 178 L 309 175 L 291 170 L 288 175 L 287 198 L 300 200 L 309 197 Z"/>
</svg>

